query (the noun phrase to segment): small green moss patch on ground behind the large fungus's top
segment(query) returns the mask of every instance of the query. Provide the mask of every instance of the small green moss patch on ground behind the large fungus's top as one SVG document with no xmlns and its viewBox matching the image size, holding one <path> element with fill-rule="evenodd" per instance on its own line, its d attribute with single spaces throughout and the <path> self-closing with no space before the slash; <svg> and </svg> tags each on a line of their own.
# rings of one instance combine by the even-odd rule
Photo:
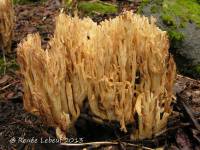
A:
<svg viewBox="0 0 200 150">
<path fill-rule="evenodd" d="M 116 5 L 103 3 L 101 1 L 96 1 L 96 2 L 82 1 L 78 4 L 78 9 L 88 14 L 93 14 L 95 12 L 100 14 L 111 14 L 117 12 Z"/>
</svg>

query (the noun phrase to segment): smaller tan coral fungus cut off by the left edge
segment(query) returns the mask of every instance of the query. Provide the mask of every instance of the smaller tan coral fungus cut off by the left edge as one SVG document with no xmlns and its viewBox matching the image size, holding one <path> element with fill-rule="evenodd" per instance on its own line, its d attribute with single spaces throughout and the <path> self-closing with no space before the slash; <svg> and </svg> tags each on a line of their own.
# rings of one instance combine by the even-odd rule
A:
<svg viewBox="0 0 200 150">
<path fill-rule="evenodd" d="M 12 0 L 0 0 L 0 49 L 5 53 L 11 50 L 14 26 Z"/>
</svg>

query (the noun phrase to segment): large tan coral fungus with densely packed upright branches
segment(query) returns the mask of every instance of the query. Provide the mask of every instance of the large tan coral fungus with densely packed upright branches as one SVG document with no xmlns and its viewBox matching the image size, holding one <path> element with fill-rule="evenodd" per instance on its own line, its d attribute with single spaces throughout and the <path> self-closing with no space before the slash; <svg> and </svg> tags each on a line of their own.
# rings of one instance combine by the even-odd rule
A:
<svg viewBox="0 0 200 150">
<path fill-rule="evenodd" d="M 94 116 L 135 124 L 132 139 L 166 126 L 176 71 L 165 31 L 153 18 L 126 12 L 97 25 L 60 14 L 46 50 L 38 34 L 19 44 L 24 107 L 46 118 L 60 136 L 88 99 Z"/>
</svg>

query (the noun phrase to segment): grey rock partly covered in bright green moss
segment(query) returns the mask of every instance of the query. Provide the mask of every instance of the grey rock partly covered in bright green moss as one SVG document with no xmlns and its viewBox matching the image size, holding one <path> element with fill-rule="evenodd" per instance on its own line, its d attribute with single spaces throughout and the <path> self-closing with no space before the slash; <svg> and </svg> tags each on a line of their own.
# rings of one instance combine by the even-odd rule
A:
<svg viewBox="0 0 200 150">
<path fill-rule="evenodd" d="M 200 64 L 199 0 L 144 0 L 138 13 L 157 19 L 157 25 L 168 32 L 178 70 L 196 76 L 194 66 Z"/>
</svg>

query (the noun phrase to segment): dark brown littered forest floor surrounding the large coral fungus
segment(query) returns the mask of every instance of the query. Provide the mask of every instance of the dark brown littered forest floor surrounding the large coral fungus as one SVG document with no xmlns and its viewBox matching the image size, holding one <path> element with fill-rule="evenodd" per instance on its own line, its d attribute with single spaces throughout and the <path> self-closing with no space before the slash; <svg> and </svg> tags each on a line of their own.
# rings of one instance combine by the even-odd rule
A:
<svg viewBox="0 0 200 150">
<path fill-rule="evenodd" d="M 139 3 L 123 5 L 124 9 L 136 11 Z M 200 81 L 181 75 L 177 76 L 174 102 L 168 127 L 151 140 L 130 141 L 128 134 L 107 124 L 99 125 L 90 118 L 80 117 L 76 123 L 76 138 L 83 142 L 105 141 L 69 147 L 58 144 L 44 144 L 45 139 L 56 139 L 55 130 L 42 120 L 23 109 L 23 87 L 16 62 L 17 44 L 29 33 L 39 32 L 45 47 L 54 31 L 55 16 L 59 6 L 53 1 L 15 5 L 16 24 L 12 53 L 6 56 L 6 73 L 0 75 L 0 150 L 10 149 L 196 149 L 200 148 Z M 112 15 L 96 15 L 99 22 Z M 2 67 L 2 66 L 1 66 Z M 5 67 L 5 66 L 4 66 Z M 2 68 L 0 69 L 2 70 Z M 4 68 L 3 68 L 4 70 Z M 117 126 L 117 125 L 116 125 Z M 71 137 L 70 137 L 71 136 Z M 69 139 L 74 140 L 74 135 Z M 30 142 L 29 140 L 32 140 Z M 43 142 L 43 144 L 41 144 Z M 110 142 L 110 143 L 106 143 Z M 117 142 L 117 143 L 116 143 Z M 73 141 L 72 141 L 73 143 Z"/>
</svg>

